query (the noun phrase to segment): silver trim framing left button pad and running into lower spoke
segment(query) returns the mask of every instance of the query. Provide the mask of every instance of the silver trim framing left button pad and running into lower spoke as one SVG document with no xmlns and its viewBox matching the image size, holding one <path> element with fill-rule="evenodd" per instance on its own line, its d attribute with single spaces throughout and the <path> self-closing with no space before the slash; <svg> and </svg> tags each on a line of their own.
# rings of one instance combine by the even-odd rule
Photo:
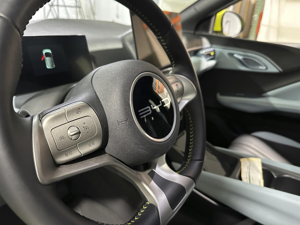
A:
<svg viewBox="0 0 300 225">
<path fill-rule="evenodd" d="M 36 173 L 42 184 L 54 183 L 107 166 L 133 183 L 145 200 L 157 208 L 161 224 L 166 224 L 173 217 L 195 185 L 191 178 L 169 168 L 165 155 L 151 161 L 150 167 L 143 172 L 129 168 L 107 153 L 75 163 L 57 165 L 44 137 L 38 114 L 33 116 L 32 137 Z"/>
</svg>

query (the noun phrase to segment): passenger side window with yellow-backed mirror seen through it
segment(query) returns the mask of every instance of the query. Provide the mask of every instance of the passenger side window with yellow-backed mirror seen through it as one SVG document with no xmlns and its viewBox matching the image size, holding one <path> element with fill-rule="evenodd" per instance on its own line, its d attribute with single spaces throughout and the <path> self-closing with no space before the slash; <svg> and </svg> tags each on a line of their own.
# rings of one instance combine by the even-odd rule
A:
<svg viewBox="0 0 300 225">
<path fill-rule="evenodd" d="M 295 0 L 241 0 L 215 15 L 211 32 L 263 42 L 300 43 L 299 8 L 300 1 Z"/>
</svg>

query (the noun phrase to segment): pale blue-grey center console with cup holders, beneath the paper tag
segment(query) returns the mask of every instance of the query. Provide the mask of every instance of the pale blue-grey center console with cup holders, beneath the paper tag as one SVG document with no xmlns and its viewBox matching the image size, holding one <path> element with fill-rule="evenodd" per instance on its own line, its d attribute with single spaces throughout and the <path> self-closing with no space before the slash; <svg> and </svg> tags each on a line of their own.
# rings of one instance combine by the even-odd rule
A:
<svg viewBox="0 0 300 225">
<path fill-rule="evenodd" d="M 300 221 L 300 167 L 262 158 L 264 187 L 241 180 L 240 158 L 253 157 L 207 143 L 196 189 L 262 224 Z"/>
</svg>

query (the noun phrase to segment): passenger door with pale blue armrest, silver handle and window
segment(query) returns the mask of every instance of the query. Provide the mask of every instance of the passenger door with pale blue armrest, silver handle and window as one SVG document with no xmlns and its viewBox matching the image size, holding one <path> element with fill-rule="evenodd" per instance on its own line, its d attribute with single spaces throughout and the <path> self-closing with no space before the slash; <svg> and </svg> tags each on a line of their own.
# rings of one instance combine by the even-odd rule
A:
<svg viewBox="0 0 300 225">
<path fill-rule="evenodd" d="M 300 142 L 300 25 L 296 22 L 300 15 L 293 10 L 300 2 L 214 2 L 223 3 L 223 8 L 220 5 L 213 11 L 208 7 L 210 16 L 201 18 L 193 32 L 184 29 L 185 35 L 192 33 L 195 39 L 207 38 L 217 61 L 199 77 L 207 140 L 228 147 L 243 133 L 266 131 Z M 216 12 L 224 8 L 239 13 L 245 22 L 238 37 L 225 37 L 214 30 Z M 277 24 L 272 20 L 275 17 Z M 295 155 L 280 154 L 298 164 Z"/>
</svg>

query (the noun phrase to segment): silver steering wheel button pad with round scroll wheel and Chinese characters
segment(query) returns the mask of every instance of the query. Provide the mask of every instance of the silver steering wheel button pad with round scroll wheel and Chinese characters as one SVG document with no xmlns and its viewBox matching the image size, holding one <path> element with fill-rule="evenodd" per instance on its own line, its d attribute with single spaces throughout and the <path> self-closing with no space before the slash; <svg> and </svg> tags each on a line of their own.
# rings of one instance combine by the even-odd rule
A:
<svg viewBox="0 0 300 225">
<path fill-rule="evenodd" d="M 72 103 L 54 110 L 46 114 L 41 122 L 56 164 L 79 158 L 101 146 L 101 123 L 93 108 L 87 103 Z M 69 128 L 72 127 L 80 130 L 79 137 L 69 138 L 72 131 Z"/>
</svg>

